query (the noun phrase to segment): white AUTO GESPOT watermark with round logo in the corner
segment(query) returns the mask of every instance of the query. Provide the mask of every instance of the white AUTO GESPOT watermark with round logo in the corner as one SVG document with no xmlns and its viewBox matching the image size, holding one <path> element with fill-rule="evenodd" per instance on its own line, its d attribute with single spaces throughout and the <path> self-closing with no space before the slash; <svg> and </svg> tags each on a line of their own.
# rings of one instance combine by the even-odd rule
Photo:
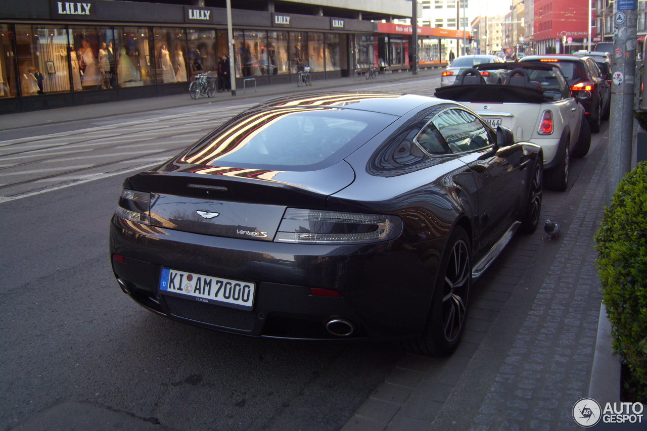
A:
<svg viewBox="0 0 647 431">
<path fill-rule="evenodd" d="M 606 403 L 604 408 L 593 398 L 582 398 L 573 406 L 577 425 L 591 428 L 602 423 L 642 423 L 641 403 Z"/>
</svg>

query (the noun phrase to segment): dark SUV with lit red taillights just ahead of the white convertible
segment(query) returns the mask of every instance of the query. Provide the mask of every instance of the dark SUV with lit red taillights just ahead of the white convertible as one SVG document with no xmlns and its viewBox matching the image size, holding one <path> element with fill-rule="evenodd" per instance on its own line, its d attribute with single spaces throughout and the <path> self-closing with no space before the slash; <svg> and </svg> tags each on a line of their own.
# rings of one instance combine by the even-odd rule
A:
<svg viewBox="0 0 647 431">
<path fill-rule="evenodd" d="M 586 119 L 591 131 L 600 131 L 600 121 L 609 118 L 611 85 L 602 76 L 593 58 L 569 54 L 544 54 L 525 56 L 521 61 L 543 61 L 556 63 L 564 74 L 571 93 L 584 106 Z"/>
</svg>

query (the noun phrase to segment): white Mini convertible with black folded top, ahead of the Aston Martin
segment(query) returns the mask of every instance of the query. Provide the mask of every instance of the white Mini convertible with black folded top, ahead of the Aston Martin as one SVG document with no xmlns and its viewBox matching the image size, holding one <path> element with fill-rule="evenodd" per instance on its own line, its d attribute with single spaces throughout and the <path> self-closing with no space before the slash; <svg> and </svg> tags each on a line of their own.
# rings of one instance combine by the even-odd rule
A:
<svg viewBox="0 0 647 431">
<path fill-rule="evenodd" d="M 487 84 L 481 71 L 496 71 L 505 81 Z M 589 152 L 591 130 L 584 108 L 556 65 L 530 61 L 478 65 L 463 71 L 454 85 L 437 88 L 435 96 L 461 102 L 492 127 L 508 127 L 515 141 L 541 146 L 545 185 L 551 190 L 566 190 L 570 157 Z"/>
</svg>

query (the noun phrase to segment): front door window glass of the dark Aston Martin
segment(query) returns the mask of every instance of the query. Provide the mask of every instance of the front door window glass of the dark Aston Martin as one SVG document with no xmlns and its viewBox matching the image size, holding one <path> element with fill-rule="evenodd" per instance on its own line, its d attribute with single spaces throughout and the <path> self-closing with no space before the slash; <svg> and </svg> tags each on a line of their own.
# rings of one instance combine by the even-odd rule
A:
<svg viewBox="0 0 647 431">
<path fill-rule="evenodd" d="M 454 154 L 481 151 L 494 142 L 488 127 L 463 109 L 448 109 L 432 122 Z"/>
</svg>

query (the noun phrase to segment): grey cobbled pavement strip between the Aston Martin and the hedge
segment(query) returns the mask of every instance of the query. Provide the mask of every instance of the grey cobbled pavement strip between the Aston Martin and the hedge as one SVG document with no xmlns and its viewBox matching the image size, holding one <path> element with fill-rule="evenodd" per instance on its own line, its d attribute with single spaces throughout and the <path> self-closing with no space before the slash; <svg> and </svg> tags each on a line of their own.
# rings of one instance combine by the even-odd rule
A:
<svg viewBox="0 0 647 431">
<path fill-rule="evenodd" d="M 517 235 L 476 283 L 451 357 L 406 355 L 343 431 L 575 430 L 600 313 L 593 235 L 604 211 L 606 142 L 574 160 L 567 192 L 544 192 L 542 220 Z"/>
</svg>

